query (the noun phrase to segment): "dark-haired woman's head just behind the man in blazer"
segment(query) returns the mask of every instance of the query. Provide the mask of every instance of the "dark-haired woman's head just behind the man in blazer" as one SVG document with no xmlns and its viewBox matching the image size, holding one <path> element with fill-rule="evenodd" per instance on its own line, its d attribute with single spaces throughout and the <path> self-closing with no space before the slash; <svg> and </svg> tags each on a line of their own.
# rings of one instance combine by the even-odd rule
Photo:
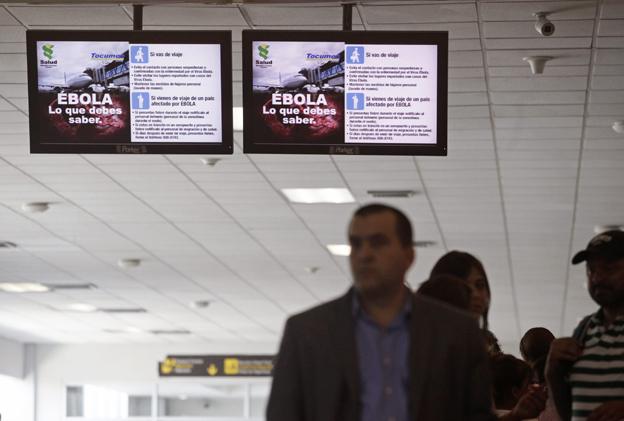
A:
<svg viewBox="0 0 624 421">
<path fill-rule="evenodd" d="M 429 279 L 440 275 L 453 275 L 466 282 L 471 290 L 470 312 L 479 319 L 481 327 L 487 330 L 491 299 L 490 283 L 479 259 L 463 251 L 450 251 L 433 266 Z"/>
</svg>

